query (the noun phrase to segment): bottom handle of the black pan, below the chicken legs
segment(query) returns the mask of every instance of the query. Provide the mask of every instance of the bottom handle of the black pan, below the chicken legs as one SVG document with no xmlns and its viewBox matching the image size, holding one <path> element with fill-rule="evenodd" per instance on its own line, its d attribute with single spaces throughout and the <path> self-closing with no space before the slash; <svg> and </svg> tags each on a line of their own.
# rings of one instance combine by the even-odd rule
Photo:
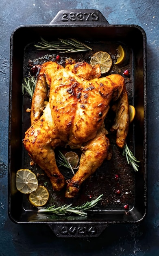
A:
<svg viewBox="0 0 159 256">
<path fill-rule="evenodd" d="M 54 234 L 59 238 L 98 237 L 108 227 L 106 223 L 48 223 Z"/>
</svg>

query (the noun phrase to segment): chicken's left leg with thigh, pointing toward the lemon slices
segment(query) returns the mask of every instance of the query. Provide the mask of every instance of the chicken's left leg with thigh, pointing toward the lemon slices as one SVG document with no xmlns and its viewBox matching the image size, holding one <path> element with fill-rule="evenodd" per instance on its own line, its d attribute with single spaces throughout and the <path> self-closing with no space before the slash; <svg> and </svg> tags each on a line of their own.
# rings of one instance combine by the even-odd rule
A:
<svg viewBox="0 0 159 256">
<path fill-rule="evenodd" d="M 57 167 L 54 148 L 61 145 L 61 139 L 54 129 L 49 103 L 42 117 L 25 134 L 23 143 L 30 157 L 46 172 L 54 191 L 60 191 L 65 179 Z"/>
</svg>

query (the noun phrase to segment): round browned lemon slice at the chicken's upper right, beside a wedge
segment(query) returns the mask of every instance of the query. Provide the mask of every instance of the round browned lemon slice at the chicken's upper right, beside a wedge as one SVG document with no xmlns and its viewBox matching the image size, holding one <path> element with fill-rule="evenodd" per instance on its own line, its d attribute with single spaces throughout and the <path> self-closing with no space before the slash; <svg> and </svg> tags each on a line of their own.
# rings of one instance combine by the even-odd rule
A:
<svg viewBox="0 0 159 256">
<path fill-rule="evenodd" d="M 90 64 L 92 66 L 96 64 L 100 64 L 100 72 L 101 74 L 107 73 L 112 65 L 113 61 L 111 56 L 107 52 L 96 52 L 91 56 Z"/>
</svg>

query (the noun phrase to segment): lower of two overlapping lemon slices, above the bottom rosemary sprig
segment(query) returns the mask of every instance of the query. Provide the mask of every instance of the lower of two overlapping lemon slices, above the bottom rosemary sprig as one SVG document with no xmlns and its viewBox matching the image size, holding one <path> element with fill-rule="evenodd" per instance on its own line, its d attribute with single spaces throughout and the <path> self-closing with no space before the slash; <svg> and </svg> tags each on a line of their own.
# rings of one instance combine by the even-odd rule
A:
<svg viewBox="0 0 159 256">
<path fill-rule="evenodd" d="M 39 185 L 37 190 L 29 195 L 30 203 L 35 207 L 44 206 L 48 202 L 49 193 L 45 186 Z"/>
</svg>

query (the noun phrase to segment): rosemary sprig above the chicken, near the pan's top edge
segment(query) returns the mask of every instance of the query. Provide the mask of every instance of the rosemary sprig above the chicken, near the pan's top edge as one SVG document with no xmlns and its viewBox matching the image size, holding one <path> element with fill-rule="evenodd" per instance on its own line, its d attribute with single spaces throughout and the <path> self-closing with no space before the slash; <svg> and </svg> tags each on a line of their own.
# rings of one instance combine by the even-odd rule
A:
<svg viewBox="0 0 159 256">
<path fill-rule="evenodd" d="M 34 46 L 37 47 L 38 50 L 48 49 L 50 51 L 59 51 L 60 53 L 83 52 L 83 51 L 92 50 L 91 47 L 76 40 L 75 38 L 69 38 L 69 39 L 58 38 L 58 41 L 52 41 L 52 42 L 48 42 L 43 38 L 41 38 L 41 41 Z"/>
</svg>

